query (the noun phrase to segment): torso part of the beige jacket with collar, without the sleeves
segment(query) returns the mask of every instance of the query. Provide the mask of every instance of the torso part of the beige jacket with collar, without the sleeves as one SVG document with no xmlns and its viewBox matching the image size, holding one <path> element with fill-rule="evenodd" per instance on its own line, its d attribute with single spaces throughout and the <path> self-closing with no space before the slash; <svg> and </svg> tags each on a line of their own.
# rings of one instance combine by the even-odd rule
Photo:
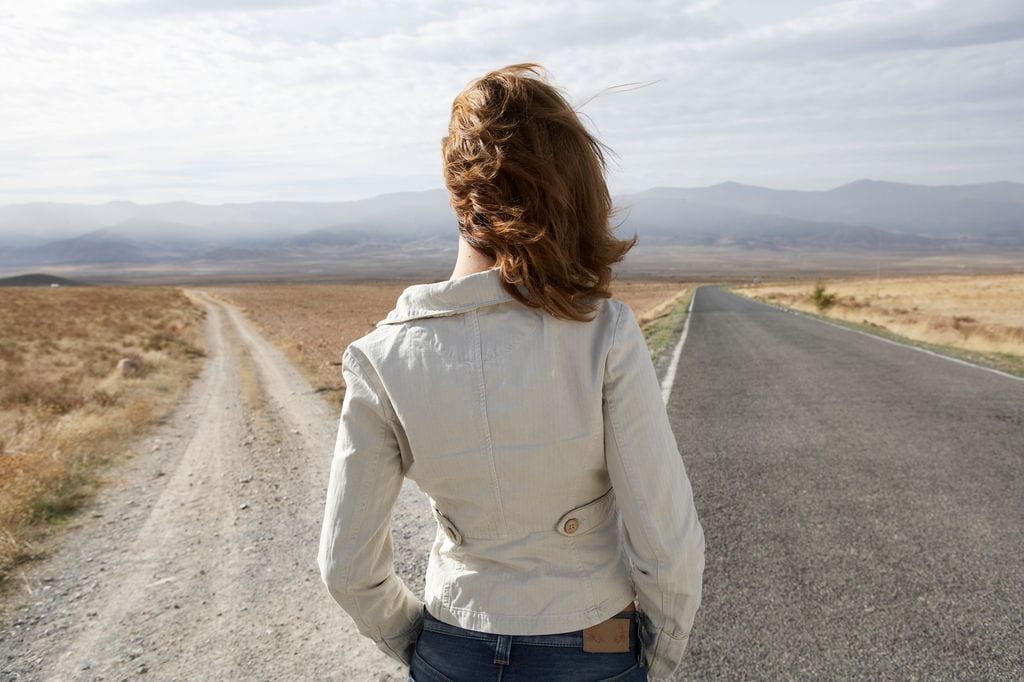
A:
<svg viewBox="0 0 1024 682">
<path fill-rule="evenodd" d="M 439 517 L 434 615 L 505 634 L 566 632 L 633 600 L 613 500 L 602 497 L 602 387 L 625 306 L 604 300 L 589 323 L 558 319 L 513 300 L 499 278 L 407 290 L 350 352 L 379 378 L 406 475 Z M 563 516 L 598 499 L 568 532 Z"/>
</svg>

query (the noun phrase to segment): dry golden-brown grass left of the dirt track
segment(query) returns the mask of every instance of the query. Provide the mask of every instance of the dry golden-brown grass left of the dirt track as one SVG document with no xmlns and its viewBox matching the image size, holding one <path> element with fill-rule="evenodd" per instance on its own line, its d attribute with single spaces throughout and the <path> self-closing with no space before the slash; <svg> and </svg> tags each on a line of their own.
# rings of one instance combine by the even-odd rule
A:
<svg viewBox="0 0 1024 682">
<path fill-rule="evenodd" d="M 173 408 L 200 367 L 201 319 L 165 287 L 0 290 L 0 576 Z"/>
</svg>

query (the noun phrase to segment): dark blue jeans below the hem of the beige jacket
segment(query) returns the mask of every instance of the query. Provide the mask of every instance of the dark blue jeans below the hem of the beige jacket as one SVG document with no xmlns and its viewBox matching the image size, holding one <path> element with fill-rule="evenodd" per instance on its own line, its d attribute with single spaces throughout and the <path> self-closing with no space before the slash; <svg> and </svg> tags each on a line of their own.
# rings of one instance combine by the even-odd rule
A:
<svg viewBox="0 0 1024 682">
<path fill-rule="evenodd" d="M 411 682 L 641 682 L 642 665 L 636 612 L 630 620 L 630 650 L 590 653 L 583 631 L 558 635 L 492 635 L 441 623 L 423 609 L 423 632 L 409 669 Z"/>
</svg>

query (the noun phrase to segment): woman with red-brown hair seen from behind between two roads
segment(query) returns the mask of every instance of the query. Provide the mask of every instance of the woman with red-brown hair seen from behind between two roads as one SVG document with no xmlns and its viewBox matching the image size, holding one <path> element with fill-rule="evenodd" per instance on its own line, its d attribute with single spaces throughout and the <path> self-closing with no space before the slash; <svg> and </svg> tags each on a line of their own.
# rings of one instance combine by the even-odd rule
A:
<svg viewBox="0 0 1024 682">
<path fill-rule="evenodd" d="M 516 65 L 456 97 L 442 157 L 455 270 L 345 351 L 324 582 L 417 682 L 668 678 L 703 534 L 643 336 L 609 298 L 635 238 L 611 235 L 602 145 Z M 392 566 L 403 476 L 438 523 L 425 604 Z"/>
</svg>

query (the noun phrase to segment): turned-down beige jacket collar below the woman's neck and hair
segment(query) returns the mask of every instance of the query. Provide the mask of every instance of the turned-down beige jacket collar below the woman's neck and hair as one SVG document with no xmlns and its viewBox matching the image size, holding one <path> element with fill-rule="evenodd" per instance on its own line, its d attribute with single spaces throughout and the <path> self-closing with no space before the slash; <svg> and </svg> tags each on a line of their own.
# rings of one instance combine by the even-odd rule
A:
<svg viewBox="0 0 1024 682">
<path fill-rule="evenodd" d="M 512 295 L 502 286 L 501 270 L 490 268 L 454 280 L 409 287 L 401 292 L 394 309 L 377 326 L 456 315 L 511 300 L 514 300 Z"/>
</svg>

